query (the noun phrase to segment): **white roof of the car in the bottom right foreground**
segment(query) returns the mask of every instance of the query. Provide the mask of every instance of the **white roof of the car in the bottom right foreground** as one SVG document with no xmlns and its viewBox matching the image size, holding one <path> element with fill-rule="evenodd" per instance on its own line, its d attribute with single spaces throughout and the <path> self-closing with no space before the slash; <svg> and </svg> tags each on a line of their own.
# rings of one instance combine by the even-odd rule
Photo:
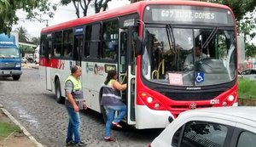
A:
<svg viewBox="0 0 256 147">
<path fill-rule="evenodd" d="M 184 111 L 182 116 L 226 116 L 227 117 L 236 117 L 245 119 L 248 121 L 256 122 L 256 107 L 253 106 L 238 106 L 238 107 L 212 107 L 212 108 L 203 108 L 196 110 L 187 110 Z"/>
</svg>

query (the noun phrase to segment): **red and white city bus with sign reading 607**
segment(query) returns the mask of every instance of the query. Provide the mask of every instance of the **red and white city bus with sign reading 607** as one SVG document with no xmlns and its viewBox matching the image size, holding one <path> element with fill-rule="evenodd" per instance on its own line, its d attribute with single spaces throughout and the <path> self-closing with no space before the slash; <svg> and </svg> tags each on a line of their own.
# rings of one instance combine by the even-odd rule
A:
<svg viewBox="0 0 256 147">
<path fill-rule="evenodd" d="M 142 1 L 49 26 L 39 64 L 59 103 L 70 67 L 80 65 L 87 104 L 103 116 L 102 84 L 117 70 L 128 84 L 124 121 L 138 129 L 166 127 L 184 110 L 237 105 L 236 21 L 220 4 Z"/>
</svg>

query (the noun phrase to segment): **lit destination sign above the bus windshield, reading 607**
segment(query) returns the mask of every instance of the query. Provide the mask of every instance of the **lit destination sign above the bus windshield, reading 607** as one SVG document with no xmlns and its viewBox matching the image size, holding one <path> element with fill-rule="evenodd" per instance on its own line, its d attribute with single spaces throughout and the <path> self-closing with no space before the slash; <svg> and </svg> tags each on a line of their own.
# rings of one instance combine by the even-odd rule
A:
<svg viewBox="0 0 256 147">
<path fill-rule="evenodd" d="M 227 9 L 172 5 L 148 6 L 145 12 L 152 20 L 146 17 L 144 19 L 154 22 L 234 25 L 232 14 Z"/>
</svg>

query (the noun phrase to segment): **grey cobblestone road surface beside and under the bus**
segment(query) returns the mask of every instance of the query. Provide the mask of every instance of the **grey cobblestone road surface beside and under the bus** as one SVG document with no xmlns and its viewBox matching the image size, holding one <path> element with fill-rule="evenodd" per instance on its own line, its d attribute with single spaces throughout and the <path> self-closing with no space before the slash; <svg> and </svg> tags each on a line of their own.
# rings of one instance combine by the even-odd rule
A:
<svg viewBox="0 0 256 147">
<path fill-rule="evenodd" d="M 38 69 L 24 68 L 20 81 L 0 77 L 0 103 L 26 127 L 39 143 L 47 147 L 65 146 L 67 110 L 55 101 L 55 93 L 45 89 Z M 103 140 L 105 124 L 93 110 L 81 112 L 81 139 L 88 147 L 148 147 L 160 129 L 137 130 L 125 126 L 113 130 L 117 142 Z"/>
</svg>

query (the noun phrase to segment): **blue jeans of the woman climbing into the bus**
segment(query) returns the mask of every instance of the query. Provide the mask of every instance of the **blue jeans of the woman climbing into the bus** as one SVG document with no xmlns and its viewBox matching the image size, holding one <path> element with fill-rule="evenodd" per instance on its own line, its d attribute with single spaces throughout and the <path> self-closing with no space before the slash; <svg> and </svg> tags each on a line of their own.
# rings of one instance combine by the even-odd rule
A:
<svg viewBox="0 0 256 147">
<path fill-rule="evenodd" d="M 110 137 L 110 129 L 112 126 L 112 122 L 120 122 L 121 119 L 126 115 L 126 105 L 104 105 L 107 114 L 107 122 L 105 128 L 105 137 Z M 119 115 L 113 119 L 114 112 L 118 110 Z"/>
</svg>

